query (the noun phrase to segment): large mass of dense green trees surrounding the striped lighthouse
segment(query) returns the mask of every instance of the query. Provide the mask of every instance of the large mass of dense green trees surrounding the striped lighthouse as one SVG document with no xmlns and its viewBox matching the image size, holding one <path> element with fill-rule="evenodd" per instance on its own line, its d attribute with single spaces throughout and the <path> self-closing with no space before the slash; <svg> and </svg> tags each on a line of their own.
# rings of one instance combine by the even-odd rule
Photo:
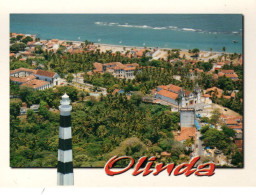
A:
<svg viewBox="0 0 256 195">
<path fill-rule="evenodd" d="M 132 95 L 130 100 L 119 94 L 102 97 L 101 101 L 79 102 L 73 87 L 45 91 L 22 88 L 18 91 L 22 101 L 28 105 L 39 103 L 40 108 L 38 113 L 28 110 L 27 115 L 17 117 L 19 102 L 11 103 L 12 167 L 57 165 L 59 112 L 48 108 L 57 107 L 58 97 L 64 92 L 74 102 L 74 166 L 103 167 L 113 155 L 139 158 L 164 150 L 173 154 L 168 162 L 178 162 L 180 154 L 185 152 L 184 146 L 172 135 L 172 130 L 179 128 L 179 115 L 166 106 L 142 103 L 137 95 Z"/>
</svg>

